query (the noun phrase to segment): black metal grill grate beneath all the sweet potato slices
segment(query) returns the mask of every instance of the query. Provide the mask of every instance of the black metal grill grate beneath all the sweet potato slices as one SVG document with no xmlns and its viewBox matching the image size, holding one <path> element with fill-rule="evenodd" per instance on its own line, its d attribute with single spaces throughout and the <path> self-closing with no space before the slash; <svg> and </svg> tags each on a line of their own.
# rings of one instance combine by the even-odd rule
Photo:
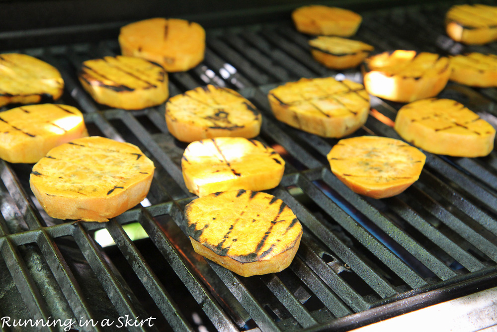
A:
<svg viewBox="0 0 497 332">
<path fill-rule="evenodd" d="M 355 37 L 378 52 L 496 52 L 497 43 L 470 47 L 449 39 L 442 24 L 448 7 L 363 11 Z M 109 110 L 95 104 L 78 83 L 76 72 L 84 60 L 119 54 L 117 33 L 108 37 L 108 31 L 116 32 L 122 24 L 66 31 L 80 37 L 101 32 L 95 32 L 102 36 L 99 40 L 93 35 L 76 44 L 66 38 L 67 43 L 56 45 L 58 29 L 0 34 L 9 47 L 5 51 L 36 56 L 61 71 L 66 90 L 60 103 L 85 113 L 90 135 L 133 143 L 156 166 L 141 205 L 107 223 L 63 222 L 48 217 L 31 194 L 31 165 L 1 161 L 0 317 L 73 319 L 78 324 L 72 331 L 122 331 L 118 322 L 149 317 L 155 318 L 152 327 L 125 328 L 347 331 L 497 286 L 496 152 L 477 159 L 426 153 L 419 181 L 403 194 L 373 200 L 352 193 L 332 175 L 326 160 L 337 140 L 278 122 L 266 96 L 301 77 L 360 82 L 360 72 L 337 73 L 315 62 L 308 37 L 295 31 L 288 10 L 284 14 L 284 20 L 208 29 L 205 60 L 186 73 L 169 75 L 171 96 L 205 84 L 239 91 L 263 113 L 257 139 L 286 161 L 281 184 L 268 192 L 296 213 L 304 226 L 302 243 L 288 269 L 249 278 L 197 255 L 184 234 L 182 211 L 194 199 L 181 175 L 186 144 L 168 134 L 164 105 Z M 39 35 L 54 43 L 19 49 Z M 439 97 L 461 102 L 497 125 L 494 88 L 449 83 Z M 354 135 L 400 138 L 392 124 L 402 105 L 372 97 L 371 106 L 365 126 Z M 143 228 L 148 238 L 132 241 L 125 231 L 130 223 Z M 106 229 L 115 245 L 102 248 L 94 236 L 99 229 Z M 102 327 L 105 319 L 115 324 Z M 4 326 L 0 331 L 27 328 Z"/>
</svg>

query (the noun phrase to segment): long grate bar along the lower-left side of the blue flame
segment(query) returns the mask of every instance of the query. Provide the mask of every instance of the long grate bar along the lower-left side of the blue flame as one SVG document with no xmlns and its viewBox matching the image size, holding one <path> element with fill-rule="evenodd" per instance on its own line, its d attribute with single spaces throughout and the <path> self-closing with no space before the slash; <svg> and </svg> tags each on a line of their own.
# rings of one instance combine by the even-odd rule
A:
<svg viewBox="0 0 497 332">
<path fill-rule="evenodd" d="M 399 259 L 390 250 L 388 250 L 380 241 L 378 241 L 373 235 L 368 233 L 362 226 L 360 226 L 359 223 L 357 223 L 342 209 L 340 209 L 331 200 L 331 198 L 326 196 L 308 179 L 306 179 L 305 177 L 299 177 L 299 186 L 313 201 L 315 201 L 318 206 L 326 211 L 331 218 L 333 218 L 338 224 L 346 229 L 353 237 L 359 240 L 359 242 L 368 250 L 375 253 L 375 255 L 383 263 L 385 263 L 385 265 L 387 265 L 392 271 L 399 275 L 399 277 L 401 277 L 409 286 L 417 288 L 426 285 L 426 282 L 421 277 L 419 277 L 411 268 L 409 268 L 401 259 Z M 360 274 L 359 272 L 356 273 L 361 275 L 361 277 L 363 277 L 365 281 L 368 282 L 370 278 L 370 271 L 364 271 L 363 274 Z M 374 288 L 373 284 L 370 284 L 370 286 Z"/>
</svg>

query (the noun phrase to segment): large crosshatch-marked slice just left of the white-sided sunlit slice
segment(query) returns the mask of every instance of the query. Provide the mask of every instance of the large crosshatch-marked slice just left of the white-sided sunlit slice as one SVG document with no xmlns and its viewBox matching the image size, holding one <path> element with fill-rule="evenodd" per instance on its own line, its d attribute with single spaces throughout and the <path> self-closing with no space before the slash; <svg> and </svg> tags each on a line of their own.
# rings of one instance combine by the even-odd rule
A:
<svg viewBox="0 0 497 332">
<path fill-rule="evenodd" d="M 343 137 L 366 122 L 369 95 L 362 84 L 329 78 L 301 79 L 268 95 L 274 116 L 323 137 Z"/>
</svg>

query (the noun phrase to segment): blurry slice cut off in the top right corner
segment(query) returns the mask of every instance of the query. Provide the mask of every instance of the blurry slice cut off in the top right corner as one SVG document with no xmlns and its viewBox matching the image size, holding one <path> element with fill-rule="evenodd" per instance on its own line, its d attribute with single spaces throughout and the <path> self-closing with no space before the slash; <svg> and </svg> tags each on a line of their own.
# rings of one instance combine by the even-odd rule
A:
<svg viewBox="0 0 497 332">
<path fill-rule="evenodd" d="M 445 17 L 450 38 L 465 44 L 486 44 L 497 40 L 497 6 L 460 4 Z"/>
</svg>

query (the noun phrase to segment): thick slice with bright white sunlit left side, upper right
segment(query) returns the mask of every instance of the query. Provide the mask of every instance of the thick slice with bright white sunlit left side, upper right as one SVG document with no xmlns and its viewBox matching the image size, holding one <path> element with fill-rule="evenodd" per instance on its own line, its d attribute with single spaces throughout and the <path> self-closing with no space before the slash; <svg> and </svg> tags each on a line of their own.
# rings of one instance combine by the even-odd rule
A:
<svg viewBox="0 0 497 332">
<path fill-rule="evenodd" d="M 451 67 L 449 59 L 438 54 L 396 50 L 367 58 L 364 71 L 364 87 L 371 95 L 410 103 L 438 95 Z"/>
</svg>

